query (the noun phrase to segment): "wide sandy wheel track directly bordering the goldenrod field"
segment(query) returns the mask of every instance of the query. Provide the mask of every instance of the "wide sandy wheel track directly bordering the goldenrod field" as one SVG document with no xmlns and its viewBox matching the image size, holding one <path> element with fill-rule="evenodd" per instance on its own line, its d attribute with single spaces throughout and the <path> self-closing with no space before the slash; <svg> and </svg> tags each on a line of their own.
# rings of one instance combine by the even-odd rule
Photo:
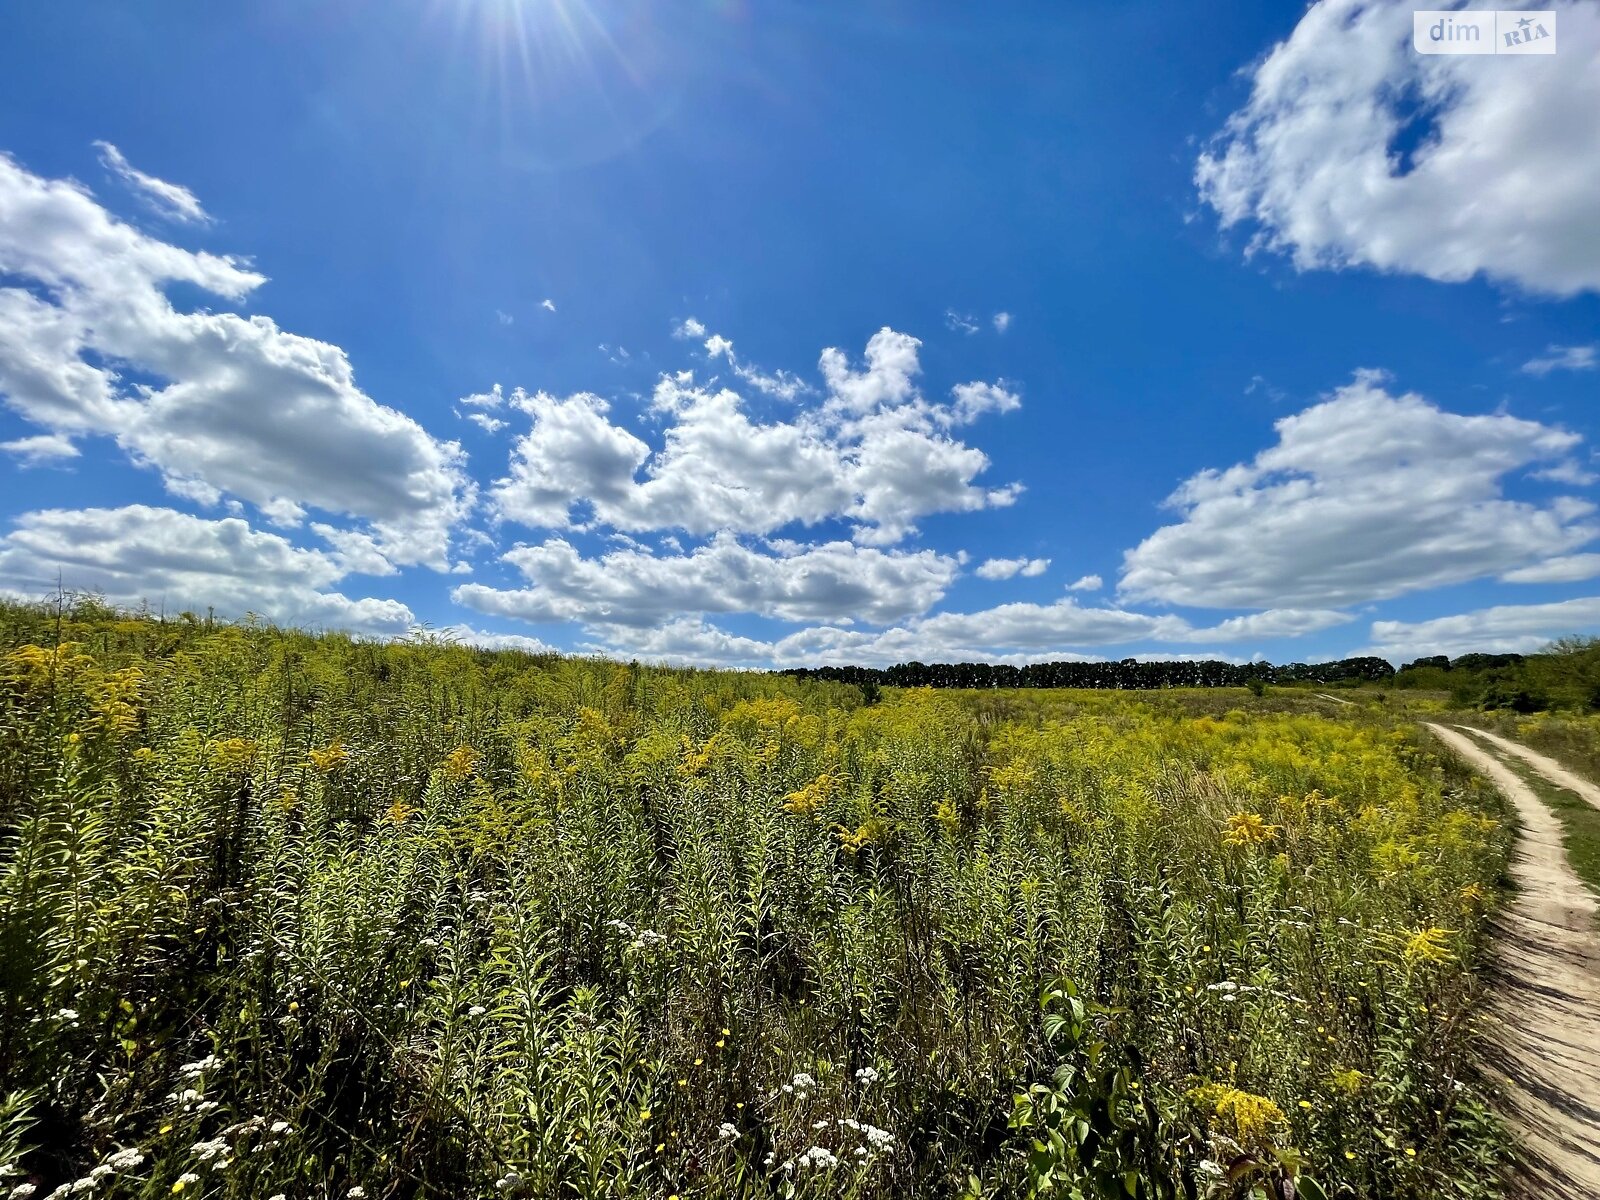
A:
<svg viewBox="0 0 1600 1200">
<path fill-rule="evenodd" d="M 1600 1197 L 1600 934 L 1566 864 L 1562 824 L 1533 789 L 1462 733 L 1427 730 L 1512 802 L 1517 894 L 1494 918 L 1485 1061 L 1506 1082 L 1520 1139 L 1514 1197 Z"/>
</svg>

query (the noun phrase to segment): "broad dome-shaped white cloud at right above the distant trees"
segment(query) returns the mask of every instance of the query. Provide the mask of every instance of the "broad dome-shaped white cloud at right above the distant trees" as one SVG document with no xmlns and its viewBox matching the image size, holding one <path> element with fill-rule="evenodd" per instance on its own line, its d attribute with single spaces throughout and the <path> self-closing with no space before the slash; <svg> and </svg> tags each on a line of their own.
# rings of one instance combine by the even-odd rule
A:
<svg viewBox="0 0 1600 1200">
<path fill-rule="evenodd" d="M 1501 574 L 1566 554 L 1594 506 L 1506 499 L 1501 480 L 1560 459 L 1576 434 L 1458 416 L 1360 373 L 1277 422 L 1253 462 L 1203 470 L 1182 514 L 1128 550 L 1122 594 L 1216 608 L 1334 608 Z"/>
</svg>

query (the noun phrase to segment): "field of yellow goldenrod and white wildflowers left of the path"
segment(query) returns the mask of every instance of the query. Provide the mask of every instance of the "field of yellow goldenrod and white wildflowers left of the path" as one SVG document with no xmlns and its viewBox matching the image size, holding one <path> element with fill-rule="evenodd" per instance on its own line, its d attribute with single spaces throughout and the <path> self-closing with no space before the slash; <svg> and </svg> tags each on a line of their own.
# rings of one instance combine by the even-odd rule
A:
<svg viewBox="0 0 1600 1200">
<path fill-rule="evenodd" d="M 0 634 L 0 1197 L 1496 1194 L 1381 714 Z"/>
</svg>

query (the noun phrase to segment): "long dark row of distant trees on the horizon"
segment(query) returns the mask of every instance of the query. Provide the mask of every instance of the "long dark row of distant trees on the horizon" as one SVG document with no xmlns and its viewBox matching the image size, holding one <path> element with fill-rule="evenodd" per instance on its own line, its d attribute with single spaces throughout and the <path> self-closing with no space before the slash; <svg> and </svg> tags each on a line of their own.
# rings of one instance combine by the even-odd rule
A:
<svg viewBox="0 0 1600 1200">
<path fill-rule="evenodd" d="M 898 662 L 893 667 L 790 667 L 784 675 L 858 688 L 1245 688 L 1256 683 L 1382 683 L 1395 669 L 1381 658 L 1338 662 Z"/>
</svg>

